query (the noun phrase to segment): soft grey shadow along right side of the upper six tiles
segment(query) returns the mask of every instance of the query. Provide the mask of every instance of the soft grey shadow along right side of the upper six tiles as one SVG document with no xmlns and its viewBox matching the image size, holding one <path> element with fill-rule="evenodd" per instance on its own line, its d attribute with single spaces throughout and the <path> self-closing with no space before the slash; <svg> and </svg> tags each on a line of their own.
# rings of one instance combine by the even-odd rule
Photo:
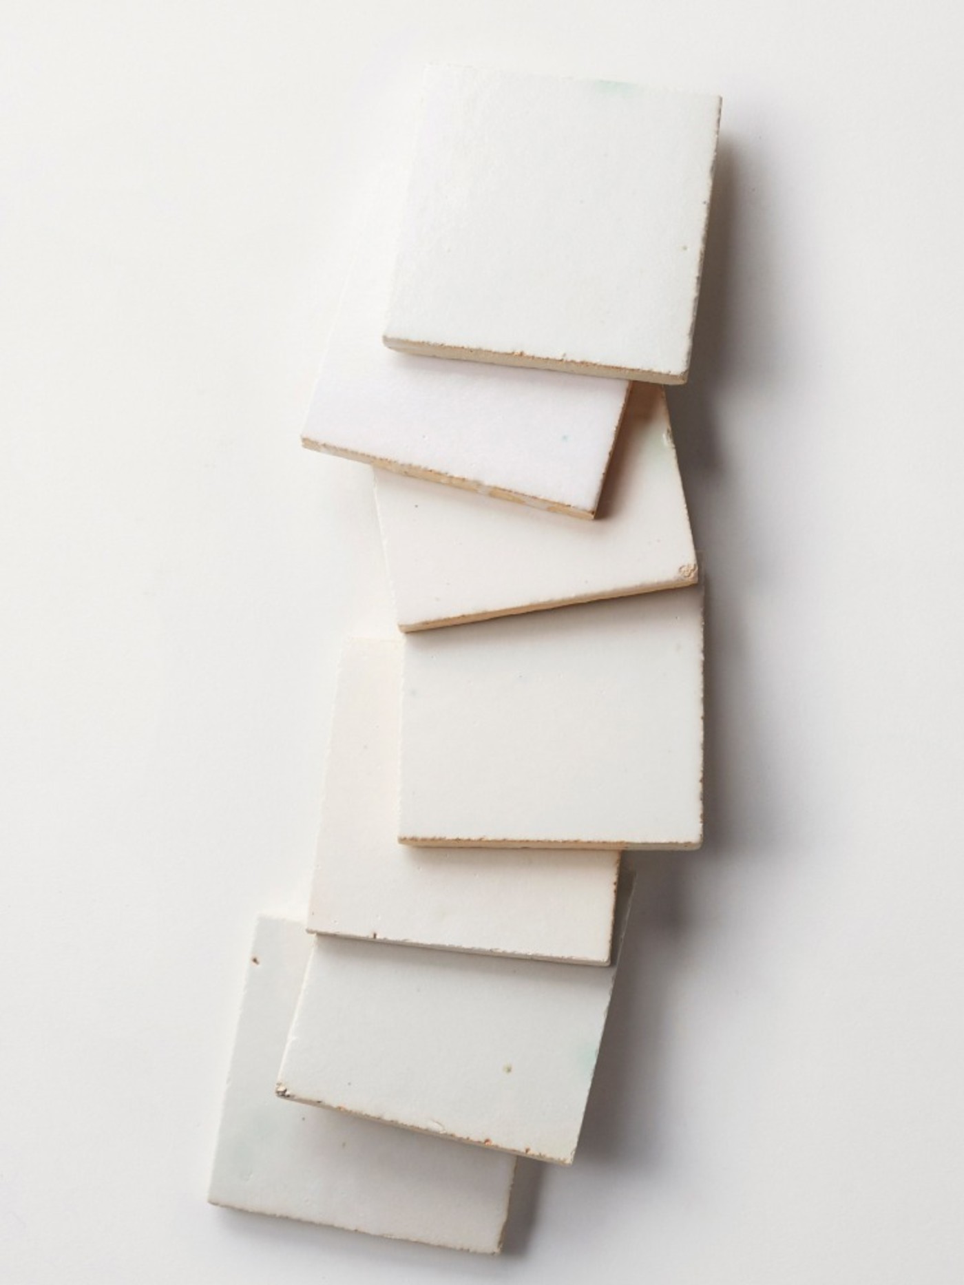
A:
<svg viewBox="0 0 964 1285">
<path fill-rule="evenodd" d="M 623 858 L 636 869 L 635 898 L 580 1140 L 580 1156 L 599 1164 L 658 1165 L 667 1099 L 663 1036 L 674 980 L 701 930 L 697 889 L 721 862 L 765 860 L 780 829 L 767 803 L 774 765 L 762 732 L 762 694 L 744 644 L 752 551 L 720 412 L 722 391 L 766 383 L 767 362 L 779 351 L 779 302 L 770 290 L 761 226 L 763 182 L 752 172 L 752 157 L 721 146 L 693 374 L 667 393 L 706 586 L 706 840 L 699 852 Z M 744 294 L 752 296 L 752 319 Z"/>
</svg>

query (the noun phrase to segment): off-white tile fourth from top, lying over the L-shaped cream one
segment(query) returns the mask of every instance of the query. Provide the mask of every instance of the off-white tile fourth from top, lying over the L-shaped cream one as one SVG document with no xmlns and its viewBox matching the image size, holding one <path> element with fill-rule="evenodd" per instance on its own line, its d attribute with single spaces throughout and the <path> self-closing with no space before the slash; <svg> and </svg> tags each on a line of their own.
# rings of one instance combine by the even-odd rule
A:
<svg viewBox="0 0 964 1285">
<path fill-rule="evenodd" d="M 698 587 L 405 640 L 400 838 L 695 848 Z"/>
</svg>

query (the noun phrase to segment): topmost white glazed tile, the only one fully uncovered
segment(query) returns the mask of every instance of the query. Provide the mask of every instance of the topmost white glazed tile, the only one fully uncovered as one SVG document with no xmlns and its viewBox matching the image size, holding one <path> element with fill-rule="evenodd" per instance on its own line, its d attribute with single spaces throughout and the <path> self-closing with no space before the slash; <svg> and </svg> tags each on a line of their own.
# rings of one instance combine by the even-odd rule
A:
<svg viewBox="0 0 964 1285">
<path fill-rule="evenodd" d="M 428 69 L 389 347 L 686 379 L 720 99 Z"/>
</svg>

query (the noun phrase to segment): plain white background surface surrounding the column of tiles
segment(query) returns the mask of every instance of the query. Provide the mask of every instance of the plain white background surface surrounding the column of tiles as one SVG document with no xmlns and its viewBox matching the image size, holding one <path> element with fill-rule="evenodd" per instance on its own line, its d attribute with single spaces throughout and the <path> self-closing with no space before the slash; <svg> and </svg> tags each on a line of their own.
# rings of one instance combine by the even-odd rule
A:
<svg viewBox="0 0 964 1285">
<path fill-rule="evenodd" d="M 5 1282 L 960 1281 L 960 13 L 8 0 Z M 582 1148 L 526 1171 L 501 1261 L 203 1199 L 338 635 L 384 613 L 364 474 L 298 433 L 433 58 L 724 95 L 670 394 L 708 842 L 639 858 Z"/>
</svg>

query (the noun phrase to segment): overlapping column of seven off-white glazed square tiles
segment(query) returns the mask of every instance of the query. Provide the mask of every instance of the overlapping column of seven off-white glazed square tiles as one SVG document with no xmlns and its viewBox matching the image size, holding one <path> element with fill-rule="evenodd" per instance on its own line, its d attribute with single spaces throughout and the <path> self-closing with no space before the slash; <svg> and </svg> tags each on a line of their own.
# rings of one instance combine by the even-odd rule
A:
<svg viewBox="0 0 964 1285">
<path fill-rule="evenodd" d="M 515 1156 L 575 1158 L 620 855 L 702 839 L 659 386 L 689 369 L 719 112 L 429 69 L 305 432 L 377 465 L 401 634 L 344 645 L 311 901 L 257 928 L 217 1204 L 494 1253 Z"/>
</svg>

